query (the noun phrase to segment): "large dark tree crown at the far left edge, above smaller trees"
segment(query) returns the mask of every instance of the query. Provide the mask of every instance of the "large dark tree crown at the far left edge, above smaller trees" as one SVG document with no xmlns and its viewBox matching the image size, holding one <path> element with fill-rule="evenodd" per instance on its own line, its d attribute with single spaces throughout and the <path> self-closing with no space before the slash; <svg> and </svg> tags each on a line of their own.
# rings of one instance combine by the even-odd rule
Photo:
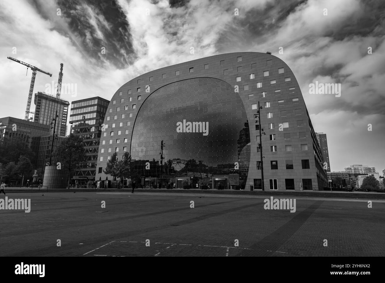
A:
<svg viewBox="0 0 385 283">
<path fill-rule="evenodd" d="M 0 163 L 5 165 L 9 162 L 16 163 L 22 155 L 35 162 L 35 153 L 22 137 L 4 137 L 0 140 Z"/>
</svg>

